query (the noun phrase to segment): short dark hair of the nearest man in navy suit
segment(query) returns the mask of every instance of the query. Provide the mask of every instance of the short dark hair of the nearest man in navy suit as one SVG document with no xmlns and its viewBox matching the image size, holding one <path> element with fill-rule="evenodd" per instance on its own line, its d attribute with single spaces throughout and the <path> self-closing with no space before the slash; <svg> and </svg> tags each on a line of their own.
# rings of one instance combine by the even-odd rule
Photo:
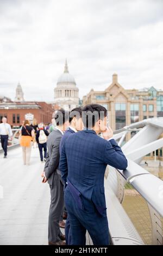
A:
<svg viewBox="0 0 163 256">
<path fill-rule="evenodd" d="M 82 120 L 86 128 L 92 128 L 95 123 L 107 116 L 107 109 L 98 104 L 89 104 L 82 109 Z"/>
</svg>

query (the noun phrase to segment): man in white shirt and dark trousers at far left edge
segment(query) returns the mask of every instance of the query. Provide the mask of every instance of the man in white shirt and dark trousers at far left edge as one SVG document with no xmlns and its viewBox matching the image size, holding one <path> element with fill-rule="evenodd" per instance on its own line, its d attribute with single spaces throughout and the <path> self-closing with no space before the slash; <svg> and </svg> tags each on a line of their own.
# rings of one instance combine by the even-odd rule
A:
<svg viewBox="0 0 163 256">
<path fill-rule="evenodd" d="M 1 135 L 1 144 L 4 151 L 4 158 L 7 158 L 7 147 L 9 136 L 12 141 L 12 130 L 11 126 L 7 123 L 7 118 L 2 118 L 2 124 L 0 124 L 0 135 Z"/>
</svg>

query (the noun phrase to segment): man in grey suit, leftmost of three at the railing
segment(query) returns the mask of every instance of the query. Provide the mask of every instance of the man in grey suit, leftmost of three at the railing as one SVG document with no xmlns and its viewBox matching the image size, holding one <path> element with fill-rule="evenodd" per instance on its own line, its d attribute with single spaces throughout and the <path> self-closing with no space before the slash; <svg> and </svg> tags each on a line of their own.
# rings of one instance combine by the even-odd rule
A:
<svg viewBox="0 0 163 256">
<path fill-rule="evenodd" d="M 65 235 L 59 228 L 59 221 L 64 209 L 64 182 L 61 178 L 59 166 L 59 144 L 64 131 L 69 126 L 69 112 L 60 109 L 54 114 L 56 127 L 52 131 L 47 140 L 47 158 L 42 176 L 43 183 L 48 181 L 51 189 L 51 205 L 49 209 L 48 219 L 48 244 L 49 245 L 65 245 Z"/>
</svg>

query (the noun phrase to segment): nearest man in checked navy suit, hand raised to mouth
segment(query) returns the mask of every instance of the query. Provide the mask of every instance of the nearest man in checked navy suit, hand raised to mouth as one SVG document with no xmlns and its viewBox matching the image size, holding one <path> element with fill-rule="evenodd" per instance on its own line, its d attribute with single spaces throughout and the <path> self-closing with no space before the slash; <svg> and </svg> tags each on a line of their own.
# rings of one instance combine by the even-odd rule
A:
<svg viewBox="0 0 163 256">
<path fill-rule="evenodd" d="M 127 159 L 106 127 L 107 111 L 101 105 L 82 109 L 85 129 L 73 133 L 62 146 L 59 169 L 67 182 L 65 205 L 71 225 L 71 245 L 85 245 L 86 230 L 93 245 L 109 245 L 104 174 L 107 164 L 127 168 Z M 97 136 L 103 134 L 103 138 Z"/>
</svg>

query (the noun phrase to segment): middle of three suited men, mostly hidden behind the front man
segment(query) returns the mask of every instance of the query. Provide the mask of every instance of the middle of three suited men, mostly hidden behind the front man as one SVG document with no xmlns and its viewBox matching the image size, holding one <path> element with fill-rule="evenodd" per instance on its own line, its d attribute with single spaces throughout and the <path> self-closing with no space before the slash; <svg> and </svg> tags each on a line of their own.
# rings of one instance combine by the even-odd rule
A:
<svg viewBox="0 0 163 256">
<path fill-rule="evenodd" d="M 82 108 L 76 107 L 73 108 L 70 112 L 70 126 L 65 131 L 64 135 L 61 138 L 59 151 L 61 154 L 61 149 L 66 139 L 70 137 L 73 133 L 83 130 L 83 121 L 82 121 Z M 67 216 L 66 225 L 65 225 L 65 236 L 66 236 L 66 244 L 71 245 L 71 229 L 70 229 L 70 221 Z"/>
</svg>

